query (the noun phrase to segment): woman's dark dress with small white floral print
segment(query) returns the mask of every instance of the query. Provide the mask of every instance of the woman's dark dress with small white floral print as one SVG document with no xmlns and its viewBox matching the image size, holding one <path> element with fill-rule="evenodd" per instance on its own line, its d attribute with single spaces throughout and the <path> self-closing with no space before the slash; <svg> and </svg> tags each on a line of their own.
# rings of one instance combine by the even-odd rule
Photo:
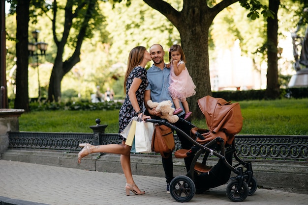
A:
<svg viewBox="0 0 308 205">
<path fill-rule="evenodd" d="M 143 110 L 144 91 L 146 87 L 148 86 L 149 81 L 147 79 L 147 70 L 141 66 L 137 66 L 130 72 L 127 78 L 127 81 L 126 81 L 126 96 L 125 96 L 124 103 L 120 109 L 120 113 L 119 113 L 119 134 L 124 130 L 124 128 L 126 128 L 126 126 L 131 121 L 131 119 L 134 116 L 137 116 L 137 113 L 134 110 L 129 100 L 129 96 L 128 96 L 128 90 L 135 77 L 138 77 L 142 80 L 136 92 L 136 97 L 137 97 L 137 102 L 139 104 L 140 109 Z M 122 137 L 122 136 L 119 135 L 119 137 Z"/>
</svg>

